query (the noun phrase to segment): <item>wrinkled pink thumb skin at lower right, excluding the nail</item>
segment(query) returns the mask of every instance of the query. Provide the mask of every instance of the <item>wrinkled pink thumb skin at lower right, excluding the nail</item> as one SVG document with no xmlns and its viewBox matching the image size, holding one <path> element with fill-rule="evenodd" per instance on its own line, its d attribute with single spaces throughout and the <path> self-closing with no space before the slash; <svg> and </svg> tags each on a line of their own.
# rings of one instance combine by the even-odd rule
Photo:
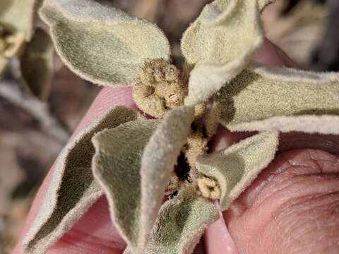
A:
<svg viewBox="0 0 339 254">
<path fill-rule="evenodd" d="M 328 152 L 278 155 L 224 214 L 239 253 L 338 253 L 338 176 Z"/>
</svg>

